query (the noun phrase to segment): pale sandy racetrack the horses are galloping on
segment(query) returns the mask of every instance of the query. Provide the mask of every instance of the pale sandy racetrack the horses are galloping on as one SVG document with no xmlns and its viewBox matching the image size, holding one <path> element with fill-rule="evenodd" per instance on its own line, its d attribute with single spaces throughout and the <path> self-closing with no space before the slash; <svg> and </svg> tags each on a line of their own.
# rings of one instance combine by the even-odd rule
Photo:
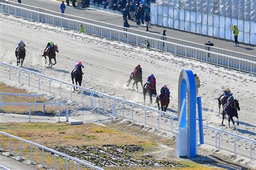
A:
<svg viewBox="0 0 256 170">
<path fill-rule="evenodd" d="M 44 75 L 71 82 L 70 72 L 78 61 L 84 61 L 83 87 L 91 88 L 102 93 L 123 98 L 125 100 L 144 104 L 142 87 L 139 92 L 126 87 L 126 81 L 134 66 L 140 64 L 143 67 L 143 81 L 150 74 L 154 74 L 157 79 L 157 90 L 167 84 L 171 90 L 170 109 L 172 114 L 177 114 L 178 103 L 178 79 L 182 69 L 192 69 L 194 73 L 200 75 L 201 87 L 199 95 L 203 102 L 204 123 L 220 129 L 232 131 L 242 136 L 256 139 L 256 116 L 254 104 L 255 83 L 254 77 L 246 74 L 231 72 L 224 68 L 216 68 L 205 63 L 174 57 L 171 54 L 164 55 L 153 51 L 146 51 L 142 48 L 113 42 L 97 37 L 79 34 L 73 31 L 61 30 L 36 22 L 28 22 L 10 16 L 1 15 L 0 18 L 0 61 L 16 64 L 14 50 L 19 40 L 24 40 L 27 44 L 24 68 L 28 68 Z M 45 60 L 41 56 L 47 42 L 58 44 L 57 64 L 53 68 L 45 65 Z M 47 61 L 49 62 L 49 61 Z M 1 72 L 4 71 L 0 67 Z M 5 69 L 6 70 L 6 69 Z M 5 74 L 1 75 L 6 77 Z M 44 81 L 42 81 L 44 82 Z M 52 83 L 52 86 L 55 86 Z M 56 85 L 57 86 L 57 85 Z M 65 86 L 64 86 L 65 87 Z M 238 130 L 228 127 L 225 119 L 225 126 L 220 126 L 219 108 L 217 97 L 222 91 L 229 87 L 234 97 L 239 100 L 239 122 Z M 36 91 L 36 90 L 35 90 Z M 146 105 L 149 104 L 149 97 L 146 98 Z M 150 105 L 157 108 L 157 104 Z M 119 110 L 118 110 L 119 111 Z M 210 136 L 211 131 L 207 134 Z M 214 136 L 214 134 L 213 134 Z M 227 143 L 233 147 L 233 140 Z M 241 143 L 238 146 L 247 145 Z M 248 149 L 248 148 L 247 148 Z M 256 155 L 255 150 L 253 155 Z"/>
</svg>

